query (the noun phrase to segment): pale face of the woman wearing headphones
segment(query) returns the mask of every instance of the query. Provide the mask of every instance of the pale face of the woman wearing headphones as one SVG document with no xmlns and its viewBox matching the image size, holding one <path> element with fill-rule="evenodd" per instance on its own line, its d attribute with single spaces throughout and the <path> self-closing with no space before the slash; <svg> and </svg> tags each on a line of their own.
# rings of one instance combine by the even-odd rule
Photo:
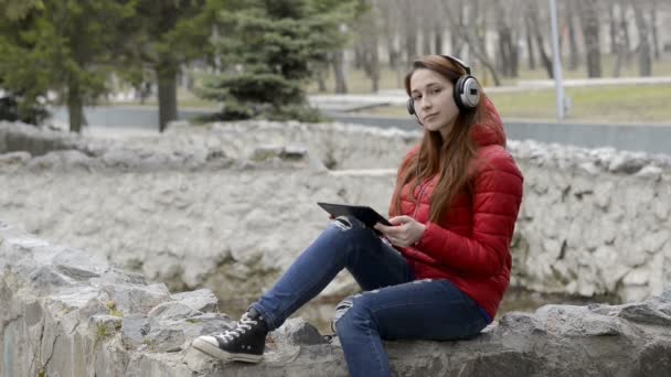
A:
<svg viewBox="0 0 671 377">
<path fill-rule="evenodd" d="M 444 138 L 459 115 L 452 90 L 452 83 L 434 71 L 419 68 L 411 76 L 415 114 L 425 129 L 438 131 Z"/>
</svg>

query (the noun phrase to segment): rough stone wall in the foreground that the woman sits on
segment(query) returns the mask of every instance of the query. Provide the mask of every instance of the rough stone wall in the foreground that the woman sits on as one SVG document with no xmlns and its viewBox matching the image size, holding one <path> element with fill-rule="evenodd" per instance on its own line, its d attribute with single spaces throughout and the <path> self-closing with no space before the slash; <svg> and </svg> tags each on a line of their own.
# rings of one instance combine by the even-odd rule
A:
<svg viewBox="0 0 671 377">
<path fill-rule="evenodd" d="M 327 343 L 300 319 L 271 333 L 258 365 L 211 359 L 190 346 L 231 326 L 211 291 L 171 294 L 1 222 L 0 302 L 3 377 L 347 376 L 338 337 Z M 667 376 L 671 286 L 640 303 L 510 313 L 471 341 L 385 346 L 408 377 Z"/>
</svg>

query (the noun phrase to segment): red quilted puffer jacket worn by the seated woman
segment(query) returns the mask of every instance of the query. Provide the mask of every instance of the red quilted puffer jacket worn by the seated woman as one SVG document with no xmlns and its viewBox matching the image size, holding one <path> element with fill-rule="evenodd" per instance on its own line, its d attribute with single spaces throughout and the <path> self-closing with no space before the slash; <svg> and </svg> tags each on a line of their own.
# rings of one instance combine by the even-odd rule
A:
<svg viewBox="0 0 671 377">
<path fill-rule="evenodd" d="M 484 128 L 482 125 L 489 127 Z M 426 225 L 415 246 L 400 248 L 416 279 L 447 279 L 493 319 L 510 281 L 510 244 L 522 202 L 523 177 L 505 150 L 501 118 L 488 100 L 486 116 L 475 125 L 479 144 L 471 184 L 455 198 L 439 224 L 428 220 L 432 192 L 438 177 L 423 182 L 409 195 L 401 192 L 401 209 Z M 417 153 L 412 150 L 406 159 Z M 416 208 L 416 197 L 419 204 Z M 393 203 L 393 202 L 392 202 Z"/>
</svg>

